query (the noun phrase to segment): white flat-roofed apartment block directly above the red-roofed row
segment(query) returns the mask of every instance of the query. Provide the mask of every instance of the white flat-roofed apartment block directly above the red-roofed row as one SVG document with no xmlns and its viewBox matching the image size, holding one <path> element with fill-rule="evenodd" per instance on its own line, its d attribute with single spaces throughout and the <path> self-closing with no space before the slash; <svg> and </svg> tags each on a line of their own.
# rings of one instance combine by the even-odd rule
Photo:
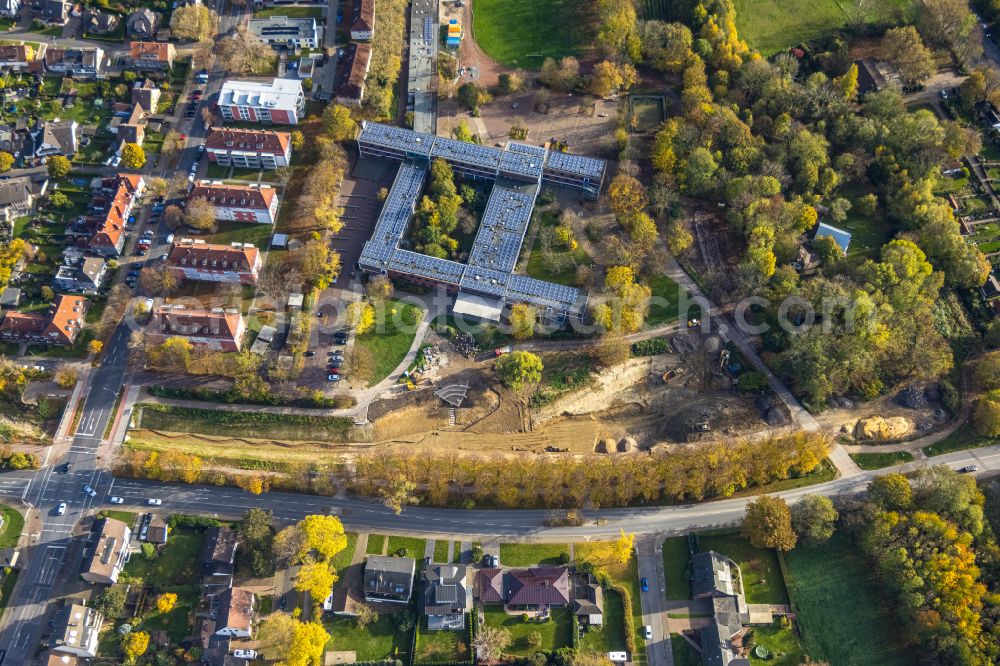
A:
<svg viewBox="0 0 1000 666">
<path fill-rule="evenodd" d="M 219 93 L 223 120 L 297 125 L 306 98 L 297 79 L 226 81 Z"/>
</svg>

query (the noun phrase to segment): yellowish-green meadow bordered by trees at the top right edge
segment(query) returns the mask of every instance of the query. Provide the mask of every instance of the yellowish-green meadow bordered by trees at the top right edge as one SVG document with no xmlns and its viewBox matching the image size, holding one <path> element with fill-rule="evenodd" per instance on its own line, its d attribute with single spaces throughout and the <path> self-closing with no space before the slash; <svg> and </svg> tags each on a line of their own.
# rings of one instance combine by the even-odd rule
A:
<svg viewBox="0 0 1000 666">
<path fill-rule="evenodd" d="M 772 55 L 803 42 L 840 30 L 851 17 L 858 0 L 735 0 L 736 28 L 751 48 Z M 868 3 L 865 3 L 866 5 Z M 908 5 L 909 0 L 889 0 L 889 5 Z M 874 10 L 868 10 L 873 12 Z M 868 20 L 877 19 L 868 16 Z"/>
</svg>

